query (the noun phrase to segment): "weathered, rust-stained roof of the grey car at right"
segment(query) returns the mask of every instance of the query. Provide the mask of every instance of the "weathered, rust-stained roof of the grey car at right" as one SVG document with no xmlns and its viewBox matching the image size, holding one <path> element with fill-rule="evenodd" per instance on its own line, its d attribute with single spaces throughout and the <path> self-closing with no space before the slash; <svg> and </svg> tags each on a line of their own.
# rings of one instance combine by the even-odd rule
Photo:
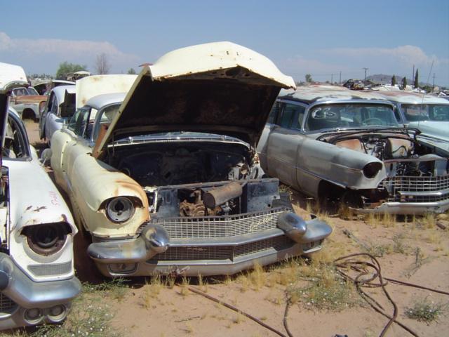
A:
<svg viewBox="0 0 449 337">
<path fill-rule="evenodd" d="M 316 84 L 298 86 L 296 90 L 281 90 L 278 97 L 306 103 L 326 102 L 329 100 L 384 100 L 385 103 L 388 101 L 387 98 L 379 95 L 378 91 L 354 91 L 343 86 Z"/>
</svg>

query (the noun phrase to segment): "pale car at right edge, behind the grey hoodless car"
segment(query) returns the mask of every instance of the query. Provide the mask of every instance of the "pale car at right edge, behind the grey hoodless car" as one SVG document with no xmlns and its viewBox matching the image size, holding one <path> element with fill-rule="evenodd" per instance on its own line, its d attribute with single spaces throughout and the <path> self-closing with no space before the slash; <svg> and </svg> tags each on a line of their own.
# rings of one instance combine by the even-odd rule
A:
<svg viewBox="0 0 449 337">
<path fill-rule="evenodd" d="M 398 123 L 449 142 L 449 100 L 407 91 L 379 93 L 396 106 Z"/>
</svg>

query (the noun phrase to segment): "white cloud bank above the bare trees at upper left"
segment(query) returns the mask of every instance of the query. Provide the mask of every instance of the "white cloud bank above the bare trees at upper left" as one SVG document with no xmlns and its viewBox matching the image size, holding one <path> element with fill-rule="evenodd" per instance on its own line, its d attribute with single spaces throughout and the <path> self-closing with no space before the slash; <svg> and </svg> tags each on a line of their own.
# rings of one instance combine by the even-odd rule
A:
<svg viewBox="0 0 449 337">
<path fill-rule="evenodd" d="M 126 71 L 129 67 L 136 67 L 140 62 L 137 55 L 120 51 L 108 41 L 13 39 L 5 32 L 0 32 L 0 56 L 8 55 L 9 58 L 16 58 L 29 72 L 48 72 L 43 69 L 50 66 L 54 69 L 65 60 L 86 64 L 93 70 L 95 57 L 101 53 L 107 55 L 116 71 Z M 55 72 L 55 69 L 53 71 Z"/>
</svg>

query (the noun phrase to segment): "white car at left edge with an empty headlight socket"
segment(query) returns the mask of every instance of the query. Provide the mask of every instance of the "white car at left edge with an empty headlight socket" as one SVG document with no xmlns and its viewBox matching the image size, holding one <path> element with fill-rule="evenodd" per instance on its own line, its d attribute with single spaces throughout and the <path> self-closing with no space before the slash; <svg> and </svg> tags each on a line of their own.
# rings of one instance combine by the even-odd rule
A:
<svg viewBox="0 0 449 337">
<path fill-rule="evenodd" d="M 21 67 L 0 67 L 0 329 L 61 322 L 81 291 L 74 277 L 69 209 L 28 143 L 8 95 Z"/>
</svg>

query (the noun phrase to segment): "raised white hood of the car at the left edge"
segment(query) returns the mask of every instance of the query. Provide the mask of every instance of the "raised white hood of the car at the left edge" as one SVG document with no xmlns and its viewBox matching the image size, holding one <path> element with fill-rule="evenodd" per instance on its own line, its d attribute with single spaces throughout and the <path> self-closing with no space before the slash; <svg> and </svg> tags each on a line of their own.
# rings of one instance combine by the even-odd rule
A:
<svg viewBox="0 0 449 337">
<path fill-rule="evenodd" d="M 23 68 L 18 65 L 0 62 L 0 166 L 6 121 L 8 120 L 8 96 L 13 88 L 19 88 L 20 86 L 28 86 L 27 76 Z"/>
</svg>

